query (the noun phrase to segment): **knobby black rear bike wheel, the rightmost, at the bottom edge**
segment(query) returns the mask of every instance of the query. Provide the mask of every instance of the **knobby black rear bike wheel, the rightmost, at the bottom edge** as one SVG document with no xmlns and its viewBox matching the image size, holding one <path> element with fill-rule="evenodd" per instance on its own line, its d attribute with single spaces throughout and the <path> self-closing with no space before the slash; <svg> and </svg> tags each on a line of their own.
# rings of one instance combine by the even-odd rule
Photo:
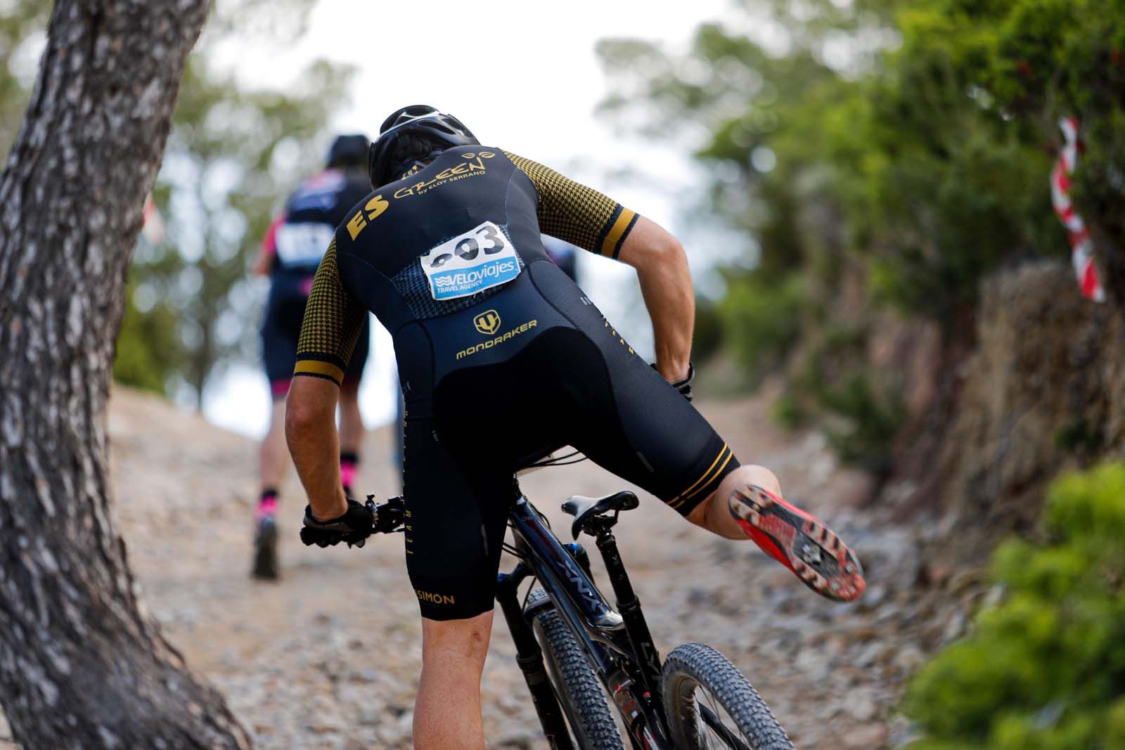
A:
<svg viewBox="0 0 1125 750">
<path fill-rule="evenodd" d="M 676 748 L 793 750 L 754 686 L 711 647 L 685 643 L 673 650 L 660 683 Z"/>
</svg>

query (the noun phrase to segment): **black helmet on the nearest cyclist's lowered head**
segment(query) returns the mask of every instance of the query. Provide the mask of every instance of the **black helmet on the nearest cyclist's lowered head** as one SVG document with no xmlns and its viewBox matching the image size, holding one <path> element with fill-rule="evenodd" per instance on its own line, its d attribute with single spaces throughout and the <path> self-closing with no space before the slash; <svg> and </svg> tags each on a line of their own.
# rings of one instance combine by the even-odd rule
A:
<svg viewBox="0 0 1125 750">
<path fill-rule="evenodd" d="M 412 105 L 390 114 L 379 128 L 379 137 L 371 144 L 367 156 L 367 170 L 371 175 L 371 187 L 378 188 L 395 180 L 397 168 L 404 168 L 400 154 L 395 153 L 395 144 L 403 136 L 413 136 L 430 145 L 430 153 L 410 161 L 421 161 L 426 156 L 453 146 L 476 146 L 480 142 L 469 128 L 452 115 L 439 112 L 429 105 Z"/>
</svg>

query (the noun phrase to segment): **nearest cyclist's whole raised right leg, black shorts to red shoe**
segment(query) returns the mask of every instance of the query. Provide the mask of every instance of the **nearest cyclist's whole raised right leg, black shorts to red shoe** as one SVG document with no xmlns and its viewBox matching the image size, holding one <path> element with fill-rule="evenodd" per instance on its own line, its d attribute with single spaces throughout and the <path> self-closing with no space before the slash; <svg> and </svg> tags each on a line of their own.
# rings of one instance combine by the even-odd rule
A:
<svg viewBox="0 0 1125 750">
<path fill-rule="evenodd" d="M 542 333 L 513 358 L 511 367 L 522 363 L 524 374 L 515 388 L 550 394 L 539 399 L 540 423 L 558 425 L 562 442 L 693 523 L 753 539 L 818 594 L 848 602 L 863 591 L 855 555 L 820 519 L 783 500 L 771 471 L 740 466 L 734 446 L 558 269 L 533 263 L 530 271 L 543 297 L 578 327 Z"/>
</svg>

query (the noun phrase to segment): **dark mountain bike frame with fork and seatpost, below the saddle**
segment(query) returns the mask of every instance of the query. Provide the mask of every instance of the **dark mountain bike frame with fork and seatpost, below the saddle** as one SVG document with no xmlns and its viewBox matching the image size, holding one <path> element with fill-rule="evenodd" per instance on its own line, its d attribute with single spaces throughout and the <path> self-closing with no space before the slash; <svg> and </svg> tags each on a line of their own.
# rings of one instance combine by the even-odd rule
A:
<svg viewBox="0 0 1125 750">
<path fill-rule="evenodd" d="M 616 608 L 597 590 L 582 545 L 559 542 L 519 485 L 514 490 L 516 499 L 508 523 L 521 561 L 511 572 L 498 576 L 496 599 L 515 641 L 516 660 L 550 747 L 573 748 L 531 627 L 542 607 L 554 606 L 616 705 L 634 750 L 670 749 L 660 699 L 660 657 L 618 553 L 616 540 L 610 533 L 612 524 L 597 533 L 596 544 Z M 539 579 L 549 598 L 524 611 L 516 589 L 529 576 Z"/>
</svg>

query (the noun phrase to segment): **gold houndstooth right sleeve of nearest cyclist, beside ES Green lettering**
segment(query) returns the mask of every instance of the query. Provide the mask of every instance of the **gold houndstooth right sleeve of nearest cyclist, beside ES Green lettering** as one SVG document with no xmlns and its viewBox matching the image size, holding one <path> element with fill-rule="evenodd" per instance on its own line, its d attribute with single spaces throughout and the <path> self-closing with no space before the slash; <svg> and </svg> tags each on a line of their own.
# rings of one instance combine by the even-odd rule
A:
<svg viewBox="0 0 1125 750">
<path fill-rule="evenodd" d="M 538 193 L 537 215 L 543 234 L 592 253 L 616 257 L 637 214 L 593 188 L 575 182 L 530 159 L 504 152 L 531 179 Z"/>
</svg>

